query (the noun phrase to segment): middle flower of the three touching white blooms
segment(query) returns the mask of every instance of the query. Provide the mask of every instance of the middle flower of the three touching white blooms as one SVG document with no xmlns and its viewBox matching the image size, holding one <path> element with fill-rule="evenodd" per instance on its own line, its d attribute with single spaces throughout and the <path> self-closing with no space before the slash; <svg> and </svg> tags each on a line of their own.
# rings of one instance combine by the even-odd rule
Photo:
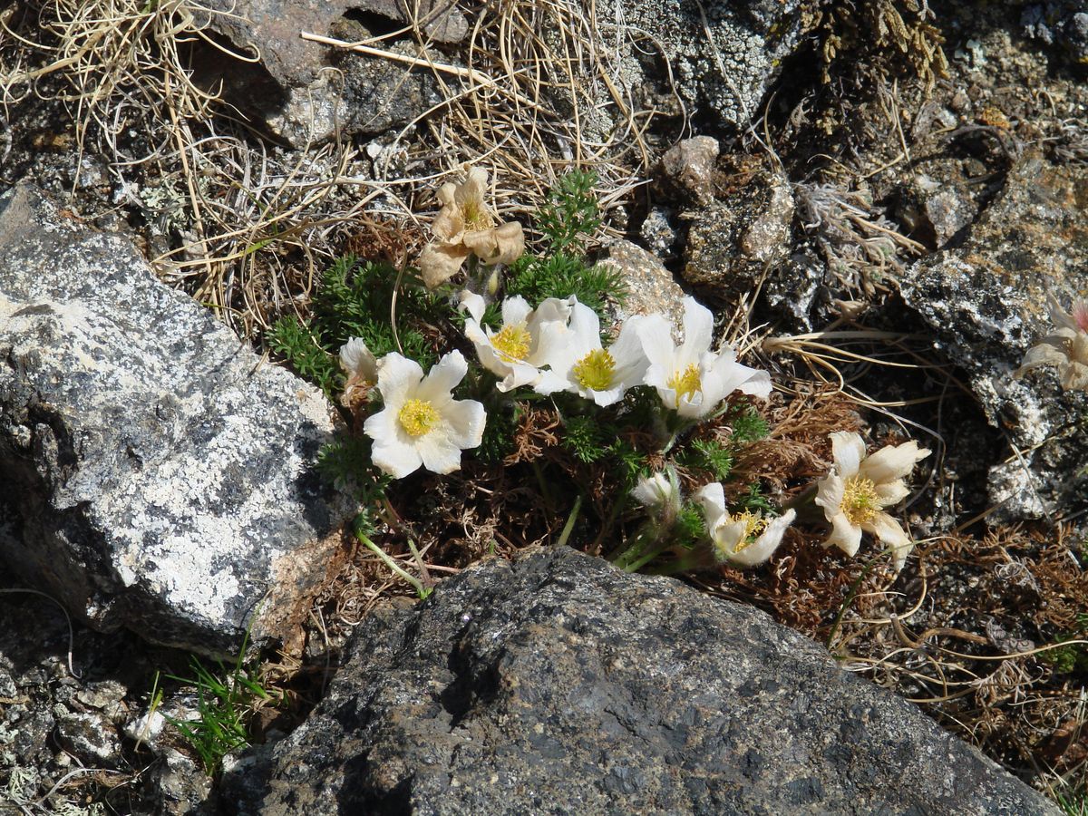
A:
<svg viewBox="0 0 1088 816">
<path fill-rule="evenodd" d="M 642 385 L 650 361 L 642 350 L 639 325 L 645 318 L 629 318 L 608 348 L 601 345 L 601 318 L 578 298 L 570 297 L 570 323 L 553 321 L 541 330 L 541 357 L 552 369 L 534 390 L 541 394 L 569 391 L 604 407 Z"/>
</svg>

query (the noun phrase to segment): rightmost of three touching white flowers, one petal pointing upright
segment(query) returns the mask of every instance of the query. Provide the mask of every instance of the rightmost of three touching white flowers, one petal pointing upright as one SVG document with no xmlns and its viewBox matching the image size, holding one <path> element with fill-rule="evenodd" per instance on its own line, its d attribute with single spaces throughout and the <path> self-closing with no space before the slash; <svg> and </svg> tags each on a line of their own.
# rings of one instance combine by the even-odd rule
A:
<svg viewBox="0 0 1088 816">
<path fill-rule="evenodd" d="M 645 382 L 657 388 L 662 401 L 681 417 L 705 417 L 734 391 L 762 397 L 770 394 L 770 375 L 737 362 L 726 346 L 710 350 L 714 318 L 692 297 L 683 299 L 683 343 L 672 342 L 672 329 L 660 314 L 642 319 L 639 334 L 650 360 Z"/>
</svg>

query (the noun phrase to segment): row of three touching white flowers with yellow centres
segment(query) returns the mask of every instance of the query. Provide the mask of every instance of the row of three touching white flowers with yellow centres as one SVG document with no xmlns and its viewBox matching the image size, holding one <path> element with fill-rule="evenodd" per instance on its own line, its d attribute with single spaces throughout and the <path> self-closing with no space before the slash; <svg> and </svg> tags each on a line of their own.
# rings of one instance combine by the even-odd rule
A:
<svg viewBox="0 0 1088 816">
<path fill-rule="evenodd" d="M 503 304 L 497 332 L 480 326 L 484 300 L 461 295 L 468 312 L 466 335 L 480 362 L 496 376 L 500 391 L 521 385 L 539 394 L 569 392 L 609 406 L 638 385 L 657 390 L 666 408 L 685 419 L 712 413 L 735 391 L 766 398 L 770 375 L 737 362 L 726 347 L 710 349 L 714 319 L 694 298 L 684 298 L 684 339 L 677 346 L 672 326 L 660 314 L 628 318 L 616 342 L 601 342 L 601 320 L 577 297 L 548 298 L 535 309 L 520 297 Z"/>
</svg>

